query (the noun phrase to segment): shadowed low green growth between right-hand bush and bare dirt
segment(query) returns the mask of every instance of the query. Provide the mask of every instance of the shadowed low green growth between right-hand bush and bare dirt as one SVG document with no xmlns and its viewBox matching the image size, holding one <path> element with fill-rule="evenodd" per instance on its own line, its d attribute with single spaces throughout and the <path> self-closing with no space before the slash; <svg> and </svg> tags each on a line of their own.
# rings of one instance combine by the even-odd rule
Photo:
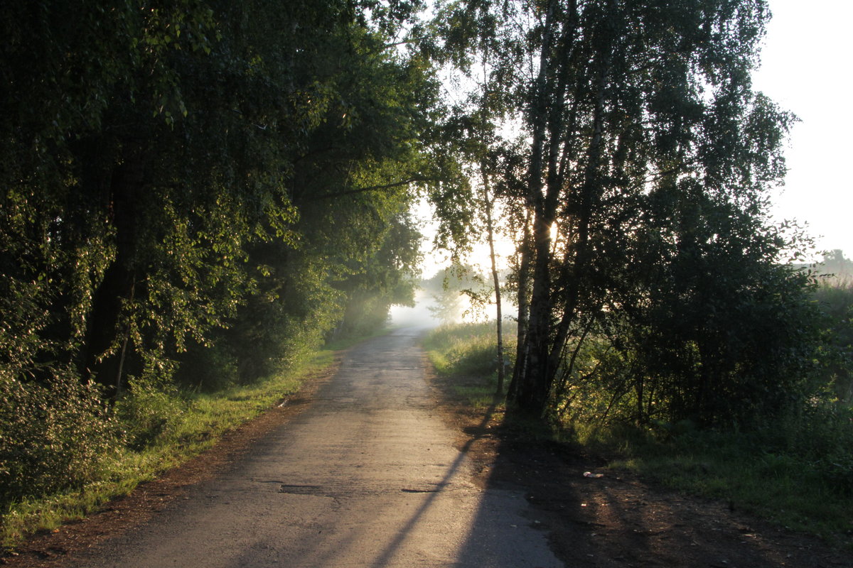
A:
<svg viewBox="0 0 853 568">
<path fill-rule="evenodd" d="M 842 415 L 842 416 L 838 416 Z M 726 502 L 787 529 L 853 545 L 850 410 L 812 409 L 749 432 L 667 425 L 576 427 L 574 440 L 612 456 L 611 468 Z"/>
</svg>

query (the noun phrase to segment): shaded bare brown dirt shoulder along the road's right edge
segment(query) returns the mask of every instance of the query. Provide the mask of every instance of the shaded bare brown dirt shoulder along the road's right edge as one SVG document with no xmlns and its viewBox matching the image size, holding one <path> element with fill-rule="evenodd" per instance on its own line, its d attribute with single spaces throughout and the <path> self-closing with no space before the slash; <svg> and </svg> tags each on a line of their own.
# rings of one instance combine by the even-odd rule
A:
<svg viewBox="0 0 853 568">
<path fill-rule="evenodd" d="M 525 491 L 547 519 L 537 526 L 549 532 L 567 566 L 853 566 L 849 549 L 769 525 L 726 503 L 661 488 L 635 473 L 606 469 L 601 456 L 502 427 L 499 414 L 462 404 L 449 379 L 427 375 L 479 485 Z"/>
</svg>

